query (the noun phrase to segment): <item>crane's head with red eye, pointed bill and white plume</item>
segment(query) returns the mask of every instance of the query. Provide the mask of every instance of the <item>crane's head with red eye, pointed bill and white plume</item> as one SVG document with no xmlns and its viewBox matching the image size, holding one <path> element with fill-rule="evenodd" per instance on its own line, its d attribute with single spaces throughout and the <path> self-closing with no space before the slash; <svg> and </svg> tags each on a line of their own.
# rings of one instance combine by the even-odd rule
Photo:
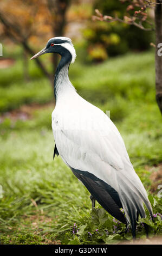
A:
<svg viewBox="0 0 162 256">
<path fill-rule="evenodd" d="M 64 36 L 49 39 L 46 47 L 40 52 L 36 53 L 33 57 L 31 57 L 31 59 L 35 59 L 44 53 L 59 53 L 61 56 L 66 56 L 69 58 L 71 63 L 74 62 L 76 57 L 72 40 Z"/>
</svg>

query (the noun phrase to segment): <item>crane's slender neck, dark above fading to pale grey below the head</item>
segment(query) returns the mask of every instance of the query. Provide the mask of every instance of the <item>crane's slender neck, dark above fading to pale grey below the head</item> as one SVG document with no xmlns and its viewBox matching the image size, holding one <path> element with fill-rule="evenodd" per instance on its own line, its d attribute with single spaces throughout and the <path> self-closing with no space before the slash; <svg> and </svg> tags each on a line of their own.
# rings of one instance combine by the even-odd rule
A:
<svg viewBox="0 0 162 256">
<path fill-rule="evenodd" d="M 62 94 L 69 92 L 69 90 L 75 90 L 68 76 L 71 59 L 72 56 L 70 54 L 66 54 L 61 57 L 60 63 L 57 66 L 54 79 L 54 94 L 56 101 Z"/>
</svg>

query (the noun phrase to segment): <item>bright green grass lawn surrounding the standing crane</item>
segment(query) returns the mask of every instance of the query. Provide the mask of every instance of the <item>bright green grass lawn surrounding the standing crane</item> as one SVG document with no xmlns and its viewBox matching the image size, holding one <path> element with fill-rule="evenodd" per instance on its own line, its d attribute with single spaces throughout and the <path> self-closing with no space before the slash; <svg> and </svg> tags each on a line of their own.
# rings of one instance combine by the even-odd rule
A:
<svg viewBox="0 0 162 256">
<path fill-rule="evenodd" d="M 27 83 L 23 81 L 20 59 L 0 76 L 1 112 L 24 103 L 53 99 L 49 82 L 34 62 L 30 65 L 31 81 Z M 162 162 L 153 52 L 129 53 L 89 66 L 79 59 L 71 65 L 69 76 L 80 95 L 103 111 L 111 111 L 111 119 L 124 138 L 135 170 L 150 195 L 153 212 L 160 213 L 162 202 L 157 197 L 158 189 L 150 193 L 151 171 L 145 169 L 145 165 L 155 165 L 158 170 L 157 165 Z M 53 106 L 48 106 L 34 110 L 28 120 L 13 121 L 8 117 L 1 121 L 1 243 L 95 244 L 131 239 L 131 230 L 127 235 L 119 235 L 124 225 L 115 223 L 99 204 L 91 211 L 86 188 L 60 156 L 53 161 L 52 111 Z M 145 220 L 150 225 L 151 236 L 162 233 L 160 216 L 154 220 L 152 223 L 149 215 Z M 140 220 L 137 236 L 145 237 L 144 234 Z"/>
</svg>

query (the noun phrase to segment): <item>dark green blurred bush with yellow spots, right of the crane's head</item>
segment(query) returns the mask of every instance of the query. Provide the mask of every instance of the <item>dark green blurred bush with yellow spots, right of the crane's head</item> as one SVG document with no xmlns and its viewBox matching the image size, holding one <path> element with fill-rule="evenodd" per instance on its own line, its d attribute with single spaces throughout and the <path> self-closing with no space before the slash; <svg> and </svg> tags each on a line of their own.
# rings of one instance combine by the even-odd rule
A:
<svg viewBox="0 0 162 256">
<path fill-rule="evenodd" d="M 95 1 L 94 10 L 99 9 L 103 15 L 118 15 L 123 19 L 128 5 L 129 2 L 121 3 L 114 0 Z M 145 26 L 147 27 L 147 24 Z M 91 21 L 83 30 L 83 35 L 87 41 L 87 59 L 93 61 L 98 60 L 93 54 L 95 48 L 100 48 L 101 52 L 105 50 L 105 54 L 101 54 L 100 57 L 100 60 L 105 60 L 106 52 L 108 56 L 116 56 L 129 50 L 147 50 L 153 40 L 152 32 L 142 31 L 135 26 L 115 21 L 112 23 Z"/>
</svg>

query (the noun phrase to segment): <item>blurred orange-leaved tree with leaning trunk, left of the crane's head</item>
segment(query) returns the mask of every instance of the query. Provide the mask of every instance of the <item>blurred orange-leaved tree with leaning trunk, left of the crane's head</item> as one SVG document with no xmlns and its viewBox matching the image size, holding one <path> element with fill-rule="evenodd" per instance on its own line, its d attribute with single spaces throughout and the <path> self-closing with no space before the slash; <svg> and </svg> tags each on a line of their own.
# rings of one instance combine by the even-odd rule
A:
<svg viewBox="0 0 162 256">
<path fill-rule="evenodd" d="M 8 36 L 9 39 L 17 44 L 21 44 L 24 52 L 29 53 L 31 56 L 33 56 L 35 52 L 30 46 L 29 39 L 32 36 L 37 36 L 37 22 L 40 20 L 41 8 L 46 7 L 43 2 L 44 1 L 39 1 L 39 5 L 36 0 L 27 0 L 25 3 L 21 0 L 7 0 L 1 2 L 0 21 L 3 25 L 4 35 Z M 36 20 L 37 22 L 35 22 Z M 51 75 L 41 60 L 36 59 L 36 63 L 41 68 L 44 75 L 51 79 Z"/>
</svg>

